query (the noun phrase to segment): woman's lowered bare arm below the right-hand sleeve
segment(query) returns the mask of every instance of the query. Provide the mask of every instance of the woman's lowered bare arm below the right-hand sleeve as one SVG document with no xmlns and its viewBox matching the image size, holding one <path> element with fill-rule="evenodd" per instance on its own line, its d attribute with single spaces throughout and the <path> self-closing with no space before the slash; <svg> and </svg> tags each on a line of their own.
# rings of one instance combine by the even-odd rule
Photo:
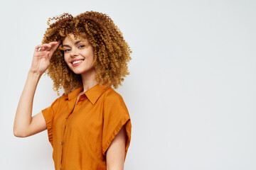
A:
<svg viewBox="0 0 256 170">
<path fill-rule="evenodd" d="M 126 132 L 124 126 L 118 132 L 107 149 L 107 170 L 123 170 Z"/>
</svg>

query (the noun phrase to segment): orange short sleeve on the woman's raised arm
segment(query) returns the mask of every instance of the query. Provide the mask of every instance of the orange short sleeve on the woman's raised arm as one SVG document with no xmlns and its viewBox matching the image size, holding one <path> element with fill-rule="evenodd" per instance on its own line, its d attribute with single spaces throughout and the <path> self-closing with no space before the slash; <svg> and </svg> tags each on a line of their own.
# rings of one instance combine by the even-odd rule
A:
<svg viewBox="0 0 256 170">
<path fill-rule="evenodd" d="M 48 138 L 51 145 L 53 145 L 53 118 L 56 111 L 58 110 L 58 106 L 60 103 L 59 100 L 60 98 L 55 99 L 55 101 L 53 101 L 53 103 L 48 108 L 42 110 L 43 117 L 46 120 Z"/>
</svg>

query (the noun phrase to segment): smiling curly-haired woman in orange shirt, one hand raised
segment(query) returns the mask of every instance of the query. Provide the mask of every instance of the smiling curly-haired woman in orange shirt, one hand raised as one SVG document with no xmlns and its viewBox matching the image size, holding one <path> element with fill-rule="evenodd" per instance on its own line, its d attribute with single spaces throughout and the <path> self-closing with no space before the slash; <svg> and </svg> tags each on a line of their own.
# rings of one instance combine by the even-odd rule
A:
<svg viewBox="0 0 256 170">
<path fill-rule="evenodd" d="M 50 24 L 50 20 L 55 23 Z M 14 135 L 48 130 L 55 169 L 123 169 L 131 140 L 129 113 L 114 88 L 129 74 L 129 45 L 110 17 L 94 11 L 49 18 L 21 94 Z M 41 75 L 65 93 L 32 115 Z"/>
</svg>

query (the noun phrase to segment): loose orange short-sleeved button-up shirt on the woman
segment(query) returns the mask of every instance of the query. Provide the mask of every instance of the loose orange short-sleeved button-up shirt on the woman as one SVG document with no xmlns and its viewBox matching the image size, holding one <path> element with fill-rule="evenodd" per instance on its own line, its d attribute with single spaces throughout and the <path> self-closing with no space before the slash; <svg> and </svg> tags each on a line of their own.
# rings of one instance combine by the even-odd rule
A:
<svg viewBox="0 0 256 170">
<path fill-rule="evenodd" d="M 107 169 L 107 148 L 123 125 L 127 132 L 124 158 L 127 155 L 132 124 L 122 96 L 110 86 L 96 85 L 75 105 L 82 90 L 80 86 L 63 94 L 42 111 L 55 170 Z"/>
</svg>

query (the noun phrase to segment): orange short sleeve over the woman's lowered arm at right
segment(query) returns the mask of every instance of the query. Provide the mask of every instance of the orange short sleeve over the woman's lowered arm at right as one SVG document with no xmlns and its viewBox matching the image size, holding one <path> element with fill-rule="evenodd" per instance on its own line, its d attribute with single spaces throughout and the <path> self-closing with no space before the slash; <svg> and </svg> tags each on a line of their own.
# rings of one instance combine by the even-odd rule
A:
<svg viewBox="0 0 256 170">
<path fill-rule="evenodd" d="M 112 140 L 124 125 L 126 131 L 125 155 L 131 142 L 132 123 L 122 96 L 112 95 L 105 100 L 103 113 L 102 154 L 106 156 Z"/>
</svg>

